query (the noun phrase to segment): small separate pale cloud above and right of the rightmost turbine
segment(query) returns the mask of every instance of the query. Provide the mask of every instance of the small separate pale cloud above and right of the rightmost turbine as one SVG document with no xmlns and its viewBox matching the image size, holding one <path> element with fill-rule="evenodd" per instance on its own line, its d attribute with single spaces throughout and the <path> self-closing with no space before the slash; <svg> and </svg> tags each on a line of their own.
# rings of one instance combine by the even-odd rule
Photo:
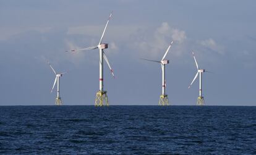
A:
<svg viewBox="0 0 256 155">
<path fill-rule="evenodd" d="M 224 48 L 223 46 L 220 46 L 216 43 L 215 40 L 212 38 L 209 38 L 207 40 L 199 41 L 200 45 L 202 45 L 205 48 L 211 49 L 211 51 L 218 52 L 218 54 L 224 54 Z"/>
</svg>

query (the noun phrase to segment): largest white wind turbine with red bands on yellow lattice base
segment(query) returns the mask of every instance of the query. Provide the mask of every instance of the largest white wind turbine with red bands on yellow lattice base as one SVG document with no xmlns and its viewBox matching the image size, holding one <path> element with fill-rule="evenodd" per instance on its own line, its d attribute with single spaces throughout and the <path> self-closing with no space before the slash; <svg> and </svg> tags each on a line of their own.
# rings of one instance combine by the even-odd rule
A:
<svg viewBox="0 0 256 155">
<path fill-rule="evenodd" d="M 75 52 L 75 51 L 86 51 L 90 49 L 99 49 L 100 50 L 100 90 L 96 93 L 96 99 L 95 99 L 95 106 L 108 106 L 108 96 L 107 96 L 107 91 L 103 90 L 103 59 L 105 59 L 106 63 L 108 64 L 108 67 L 114 77 L 113 69 L 111 68 L 108 57 L 106 56 L 105 52 L 103 49 L 108 48 L 108 44 L 103 44 L 103 36 L 105 35 L 106 28 L 108 27 L 108 22 L 111 19 L 112 12 L 109 15 L 108 21 L 106 22 L 106 26 L 103 30 L 103 33 L 100 38 L 100 42 L 98 43 L 97 46 L 92 46 L 89 48 L 83 48 L 83 49 L 72 49 L 70 52 Z"/>
</svg>

